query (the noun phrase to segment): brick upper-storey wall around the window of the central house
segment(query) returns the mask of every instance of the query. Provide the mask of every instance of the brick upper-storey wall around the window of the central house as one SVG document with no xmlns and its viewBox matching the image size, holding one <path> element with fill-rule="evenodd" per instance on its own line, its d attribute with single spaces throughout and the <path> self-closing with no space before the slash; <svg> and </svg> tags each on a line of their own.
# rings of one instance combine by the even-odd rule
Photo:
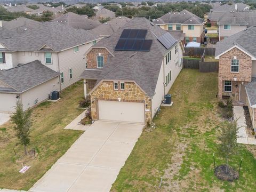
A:
<svg viewBox="0 0 256 192">
<path fill-rule="evenodd" d="M 92 48 L 86 57 L 87 68 L 97 68 L 97 55 L 99 55 L 99 53 L 104 57 L 104 63 L 107 63 L 109 52 L 104 48 Z"/>
</svg>

